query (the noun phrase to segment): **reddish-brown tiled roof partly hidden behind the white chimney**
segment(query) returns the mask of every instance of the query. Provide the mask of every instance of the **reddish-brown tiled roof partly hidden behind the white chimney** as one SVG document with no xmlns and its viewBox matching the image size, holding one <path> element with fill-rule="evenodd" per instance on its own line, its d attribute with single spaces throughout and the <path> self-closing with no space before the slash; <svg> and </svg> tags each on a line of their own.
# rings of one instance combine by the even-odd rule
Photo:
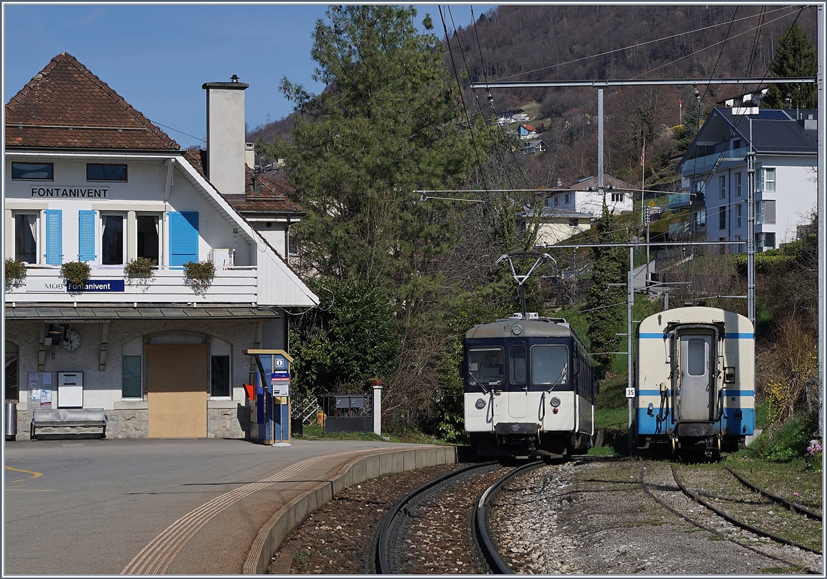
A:
<svg viewBox="0 0 827 579">
<path fill-rule="evenodd" d="M 207 175 L 203 170 L 203 154 L 205 151 L 188 149 L 184 151 L 184 159 L 200 173 L 204 179 Z M 233 199 L 225 195 L 236 210 L 246 213 L 301 213 L 299 203 L 289 199 L 288 195 L 295 192 L 293 185 L 283 170 L 273 169 L 266 171 L 252 170 L 245 165 L 245 192 L 244 199 Z M 240 197 L 240 196 L 239 196 Z"/>
</svg>

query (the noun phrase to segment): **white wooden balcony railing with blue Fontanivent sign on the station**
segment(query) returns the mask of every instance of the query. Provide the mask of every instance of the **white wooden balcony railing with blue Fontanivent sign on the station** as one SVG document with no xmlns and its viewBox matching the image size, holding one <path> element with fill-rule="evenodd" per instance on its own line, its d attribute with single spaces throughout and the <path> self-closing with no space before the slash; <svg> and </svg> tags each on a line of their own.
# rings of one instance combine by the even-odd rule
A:
<svg viewBox="0 0 827 579">
<path fill-rule="evenodd" d="M 159 268 L 155 277 L 129 278 L 123 266 L 93 266 L 82 291 L 69 291 L 58 266 L 30 266 L 26 280 L 6 288 L 6 301 L 88 304 L 112 302 L 201 304 L 255 304 L 258 302 L 256 267 L 216 269 L 213 283 L 204 291 L 188 285 L 184 270 Z"/>
</svg>

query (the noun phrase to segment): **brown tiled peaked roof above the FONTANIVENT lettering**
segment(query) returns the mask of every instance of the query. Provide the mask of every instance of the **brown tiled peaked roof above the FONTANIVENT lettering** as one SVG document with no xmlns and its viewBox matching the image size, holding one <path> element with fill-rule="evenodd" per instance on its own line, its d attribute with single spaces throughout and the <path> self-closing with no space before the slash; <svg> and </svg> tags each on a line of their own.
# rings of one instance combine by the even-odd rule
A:
<svg viewBox="0 0 827 579">
<path fill-rule="evenodd" d="M 6 146 L 180 149 L 66 52 L 55 56 L 6 104 Z"/>
</svg>

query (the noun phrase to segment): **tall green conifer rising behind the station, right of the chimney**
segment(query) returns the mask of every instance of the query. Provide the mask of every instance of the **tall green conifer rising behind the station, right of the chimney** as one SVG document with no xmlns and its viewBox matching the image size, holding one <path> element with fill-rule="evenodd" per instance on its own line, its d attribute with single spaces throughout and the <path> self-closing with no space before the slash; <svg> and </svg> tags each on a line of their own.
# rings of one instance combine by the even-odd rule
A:
<svg viewBox="0 0 827 579">
<path fill-rule="evenodd" d="M 437 37 L 414 7 L 332 6 L 314 31 L 312 95 L 282 81 L 297 115 L 285 159 L 307 216 L 294 231 L 304 272 L 361 279 L 415 302 L 457 235 L 452 205 L 415 189 L 455 189 L 476 160 Z M 430 28 L 430 18 L 423 22 Z"/>
</svg>

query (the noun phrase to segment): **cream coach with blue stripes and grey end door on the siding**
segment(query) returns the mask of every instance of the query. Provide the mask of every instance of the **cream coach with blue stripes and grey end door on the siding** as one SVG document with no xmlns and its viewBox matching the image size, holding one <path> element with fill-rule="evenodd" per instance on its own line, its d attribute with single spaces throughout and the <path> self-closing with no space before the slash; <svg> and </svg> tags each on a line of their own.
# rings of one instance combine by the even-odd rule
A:
<svg viewBox="0 0 827 579">
<path fill-rule="evenodd" d="M 638 326 L 637 445 L 707 455 L 735 450 L 755 426 L 755 334 L 739 313 L 693 306 Z"/>
</svg>

